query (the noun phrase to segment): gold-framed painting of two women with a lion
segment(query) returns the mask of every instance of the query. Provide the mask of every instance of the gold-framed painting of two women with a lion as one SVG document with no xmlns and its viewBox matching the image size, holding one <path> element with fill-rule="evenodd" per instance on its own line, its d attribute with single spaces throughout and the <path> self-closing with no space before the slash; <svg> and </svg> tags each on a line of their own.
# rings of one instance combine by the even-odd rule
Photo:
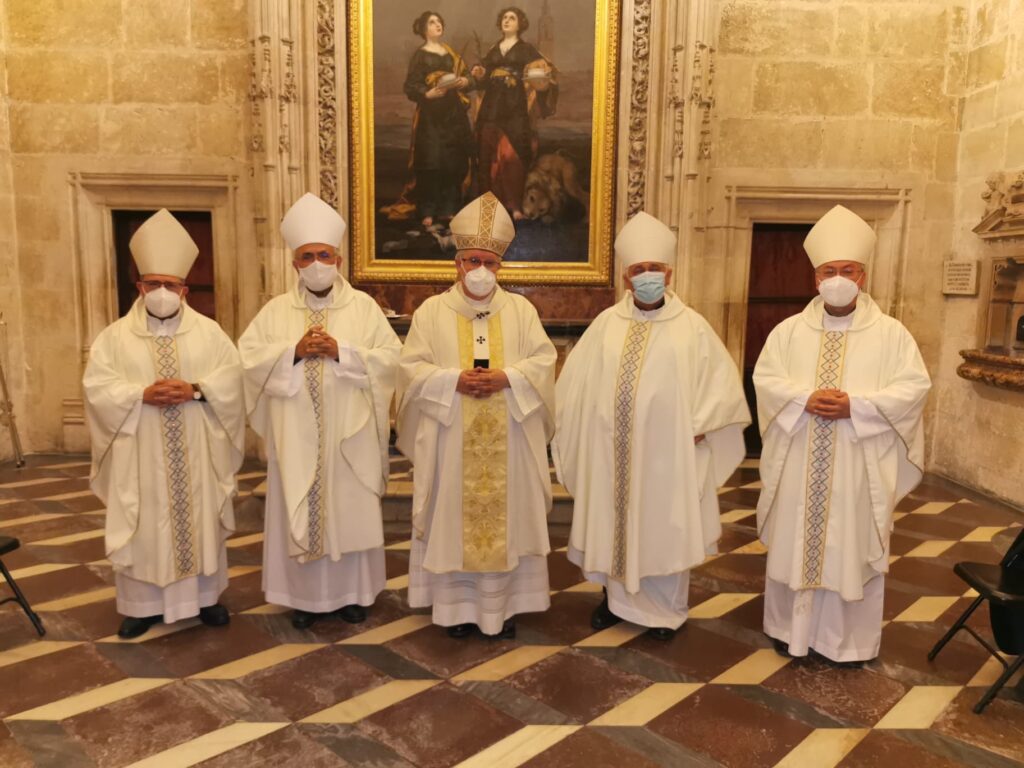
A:
<svg viewBox="0 0 1024 768">
<path fill-rule="evenodd" d="M 352 276 L 451 282 L 447 224 L 494 193 L 502 282 L 608 285 L 618 0 L 350 0 Z"/>
</svg>

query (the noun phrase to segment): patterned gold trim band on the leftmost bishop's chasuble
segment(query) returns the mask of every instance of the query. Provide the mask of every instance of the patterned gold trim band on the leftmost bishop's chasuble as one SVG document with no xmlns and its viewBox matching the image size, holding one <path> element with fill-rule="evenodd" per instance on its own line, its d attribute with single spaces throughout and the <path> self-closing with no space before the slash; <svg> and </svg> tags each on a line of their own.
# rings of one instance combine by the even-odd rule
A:
<svg viewBox="0 0 1024 768">
<path fill-rule="evenodd" d="M 155 336 L 154 354 L 162 379 L 180 378 L 178 347 L 173 336 Z M 160 409 L 160 428 L 164 443 L 164 468 L 167 498 L 171 513 L 171 543 L 174 573 L 177 579 L 197 575 L 196 526 L 193 523 L 191 479 L 188 476 L 188 447 L 185 440 L 184 414 L 181 406 Z"/>
</svg>

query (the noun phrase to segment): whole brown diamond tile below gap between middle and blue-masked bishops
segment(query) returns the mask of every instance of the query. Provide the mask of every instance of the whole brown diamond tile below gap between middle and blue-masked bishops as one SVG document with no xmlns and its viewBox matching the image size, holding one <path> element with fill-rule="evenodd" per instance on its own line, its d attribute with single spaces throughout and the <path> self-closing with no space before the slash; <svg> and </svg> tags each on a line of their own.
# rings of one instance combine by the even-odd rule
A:
<svg viewBox="0 0 1024 768">
<path fill-rule="evenodd" d="M 589 723 L 650 684 L 639 675 L 572 648 L 517 672 L 505 682 L 579 723 Z"/>
</svg>

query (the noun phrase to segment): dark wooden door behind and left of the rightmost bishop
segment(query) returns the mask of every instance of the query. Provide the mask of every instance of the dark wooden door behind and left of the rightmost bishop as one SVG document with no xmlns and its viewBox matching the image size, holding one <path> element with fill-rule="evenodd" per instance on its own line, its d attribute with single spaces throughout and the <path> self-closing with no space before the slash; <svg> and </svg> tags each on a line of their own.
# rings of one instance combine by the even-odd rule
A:
<svg viewBox="0 0 1024 768">
<path fill-rule="evenodd" d="M 761 433 L 754 394 L 754 366 L 768 334 L 800 312 L 817 295 L 814 270 L 804 251 L 811 224 L 755 224 L 751 243 L 751 281 L 743 345 L 743 390 L 754 418 L 743 432 L 748 456 L 761 456 Z"/>
</svg>

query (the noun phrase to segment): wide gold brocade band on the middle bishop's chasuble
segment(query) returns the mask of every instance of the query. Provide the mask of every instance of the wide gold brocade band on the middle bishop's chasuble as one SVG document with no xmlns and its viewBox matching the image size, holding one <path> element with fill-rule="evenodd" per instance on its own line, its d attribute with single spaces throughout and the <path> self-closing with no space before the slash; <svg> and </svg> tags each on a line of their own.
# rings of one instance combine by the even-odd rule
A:
<svg viewBox="0 0 1024 768">
<path fill-rule="evenodd" d="M 459 317 L 459 361 L 473 368 L 473 321 Z M 505 367 L 502 322 L 487 319 L 490 368 Z M 462 569 L 508 570 L 508 409 L 505 394 L 462 398 Z"/>
</svg>

